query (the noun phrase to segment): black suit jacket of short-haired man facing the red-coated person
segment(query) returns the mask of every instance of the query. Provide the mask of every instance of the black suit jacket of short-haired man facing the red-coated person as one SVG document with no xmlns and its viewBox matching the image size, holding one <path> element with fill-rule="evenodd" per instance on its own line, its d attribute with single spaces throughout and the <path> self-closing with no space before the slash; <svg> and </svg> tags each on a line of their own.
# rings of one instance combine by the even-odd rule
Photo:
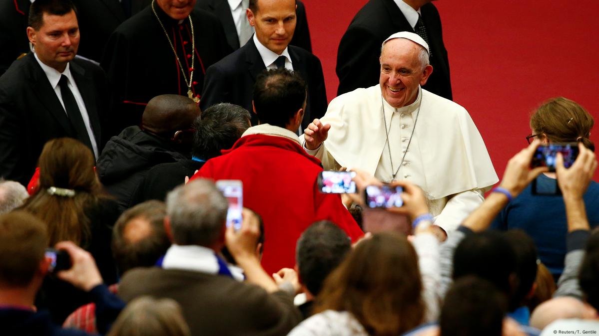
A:
<svg viewBox="0 0 599 336">
<path fill-rule="evenodd" d="M 314 118 L 322 117 L 326 112 L 325 78 L 318 57 L 303 48 L 289 45 L 294 71 L 308 85 L 308 99 L 302 127 L 307 127 Z M 265 71 L 264 61 L 253 38 L 246 45 L 226 56 L 206 71 L 204 91 L 199 106 L 202 110 L 217 103 L 232 103 L 252 112 L 252 94 L 256 77 Z M 256 114 L 252 113 L 252 125 L 258 124 Z"/>
</svg>

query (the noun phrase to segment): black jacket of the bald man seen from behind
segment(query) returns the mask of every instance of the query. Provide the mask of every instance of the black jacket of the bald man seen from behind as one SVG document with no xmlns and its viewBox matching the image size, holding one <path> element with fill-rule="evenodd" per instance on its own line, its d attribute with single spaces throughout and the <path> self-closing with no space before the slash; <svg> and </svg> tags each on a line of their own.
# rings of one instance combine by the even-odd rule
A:
<svg viewBox="0 0 599 336">
<path fill-rule="evenodd" d="M 131 126 L 108 141 L 98 158 L 96 171 L 108 193 L 117 198 L 120 210 L 124 211 L 134 205 L 135 190 L 150 168 L 186 158 L 168 140 Z"/>
</svg>

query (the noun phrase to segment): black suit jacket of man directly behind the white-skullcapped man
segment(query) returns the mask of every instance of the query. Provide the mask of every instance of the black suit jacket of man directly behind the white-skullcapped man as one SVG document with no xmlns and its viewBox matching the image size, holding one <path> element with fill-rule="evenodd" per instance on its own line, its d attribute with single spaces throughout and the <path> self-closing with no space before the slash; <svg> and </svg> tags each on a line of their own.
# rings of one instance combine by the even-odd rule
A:
<svg viewBox="0 0 599 336">
<path fill-rule="evenodd" d="M 441 97 L 452 99 L 449 60 L 443 30 L 433 4 L 420 7 L 432 53 L 432 74 L 423 86 Z M 380 46 L 394 33 L 414 32 L 394 0 L 370 0 L 349 24 L 337 51 L 337 95 L 379 83 Z"/>
</svg>

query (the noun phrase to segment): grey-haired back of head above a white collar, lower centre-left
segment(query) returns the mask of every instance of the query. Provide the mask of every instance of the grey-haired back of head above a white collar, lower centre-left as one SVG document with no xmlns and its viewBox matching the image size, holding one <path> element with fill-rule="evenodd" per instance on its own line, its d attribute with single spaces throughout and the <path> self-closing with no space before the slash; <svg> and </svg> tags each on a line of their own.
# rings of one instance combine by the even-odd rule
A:
<svg viewBox="0 0 599 336">
<path fill-rule="evenodd" d="M 167 195 L 167 216 L 177 245 L 209 246 L 225 225 L 229 204 L 208 179 L 180 185 Z"/>
</svg>

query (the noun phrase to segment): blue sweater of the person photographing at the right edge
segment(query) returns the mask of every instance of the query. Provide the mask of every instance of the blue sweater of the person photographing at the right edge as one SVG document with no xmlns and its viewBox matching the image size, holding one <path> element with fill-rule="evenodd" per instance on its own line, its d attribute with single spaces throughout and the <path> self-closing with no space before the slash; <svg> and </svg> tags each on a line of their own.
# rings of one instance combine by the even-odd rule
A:
<svg viewBox="0 0 599 336">
<path fill-rule="evenodd" d="M 550 190 L 556 180 L 541 174 L 537 190 Z M 549 268 L 555 279 L 564 269 L 565 238 L 568 224 L 565 218 L 564 198 L 533 195 L 531 185 L 514 198 L 494 219 L 491 228 L 510 230 L 519 228 L 530 236 L 539 253 L 539 259 Z M 586 190 L 586 215 L 591 228 L 599 224 L 599 184 L 592 181 Z"/>
</svg>

